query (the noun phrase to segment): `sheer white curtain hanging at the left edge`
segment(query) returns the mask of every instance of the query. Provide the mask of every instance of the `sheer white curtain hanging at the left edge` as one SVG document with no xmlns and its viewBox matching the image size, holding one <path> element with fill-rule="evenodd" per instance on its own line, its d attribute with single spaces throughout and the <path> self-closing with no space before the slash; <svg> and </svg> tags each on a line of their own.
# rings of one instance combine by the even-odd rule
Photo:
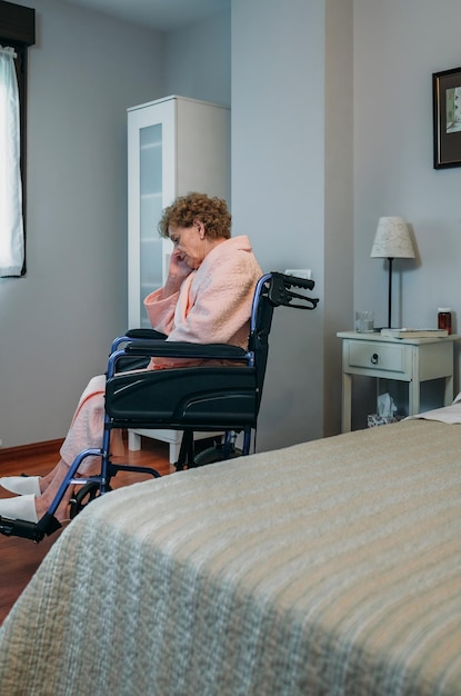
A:
<svg viewBox="0 0 461 696">
<path fill-rule="evenodd" d="M 19 93 L 14 51 L 0 47 L 0 277 L 20 276 L 24 260 Z"/>
</svg>

